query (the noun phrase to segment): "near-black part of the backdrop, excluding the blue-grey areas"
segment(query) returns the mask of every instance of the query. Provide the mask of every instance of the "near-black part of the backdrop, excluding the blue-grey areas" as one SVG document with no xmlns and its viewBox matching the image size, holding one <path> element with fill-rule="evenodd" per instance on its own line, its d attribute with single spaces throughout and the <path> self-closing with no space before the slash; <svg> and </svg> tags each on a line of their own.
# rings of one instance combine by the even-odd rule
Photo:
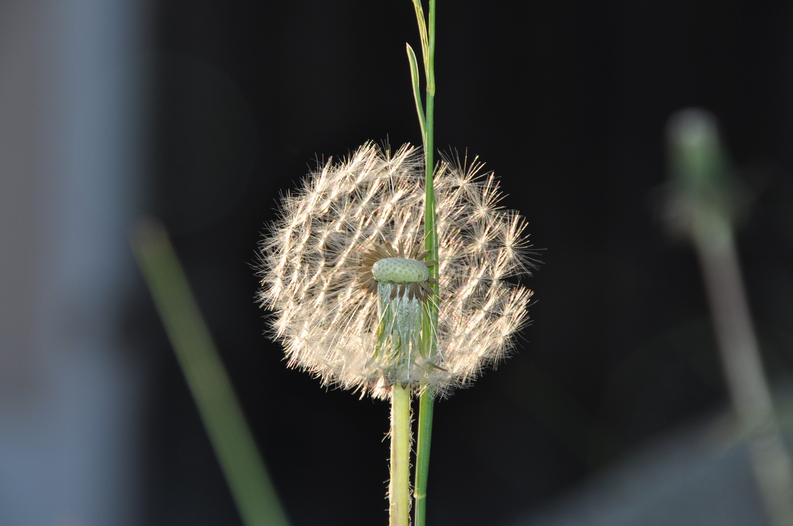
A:
<svg viewBox="0 0 793 526">
<path fill-rule="evenodd" d="M 255 303 L 279 193 L 367 139 L 420 143 L 411 2 L 157 0 L 163 217 L 294 526 L 386 524 L 389 410 L 285 368 Z M 542 265 L 515 355 L 435 410 L 430 524 L 500 524 L 726 405 L 696 261 L 665 236 L 671 112 L 711 109 L 755 196 L 739 244 L 769 375 L 793 364 L 793 10 L 439 2 L 436 144 L 480 155 Z M 447 147 L 447 145 L 449 145 Z M 145 524 L 239 524 L 142 280 Z"/>
</svg>

